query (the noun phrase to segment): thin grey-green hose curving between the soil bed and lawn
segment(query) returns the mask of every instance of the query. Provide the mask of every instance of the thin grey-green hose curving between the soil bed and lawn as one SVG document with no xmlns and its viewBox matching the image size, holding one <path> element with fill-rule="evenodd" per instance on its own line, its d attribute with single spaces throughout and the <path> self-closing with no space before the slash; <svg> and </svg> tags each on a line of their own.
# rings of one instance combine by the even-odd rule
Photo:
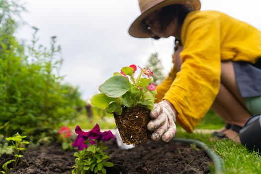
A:
<svg viewBox="0 0 261 174">
<path fill-rule="evenodd" d="M 203 151 L 208 155 L 208 157 L 214 163 L 215 174 L 223 174 L 223 160 L 217 154 L 215 154 L 206 144 L 198 140 L 183 139 L 183 138 L 174 138 L 173 141 L 190 143 L 190 144 L 194 143 L 198 145 L 201 149 L 203 149 Z"/>
</svg>

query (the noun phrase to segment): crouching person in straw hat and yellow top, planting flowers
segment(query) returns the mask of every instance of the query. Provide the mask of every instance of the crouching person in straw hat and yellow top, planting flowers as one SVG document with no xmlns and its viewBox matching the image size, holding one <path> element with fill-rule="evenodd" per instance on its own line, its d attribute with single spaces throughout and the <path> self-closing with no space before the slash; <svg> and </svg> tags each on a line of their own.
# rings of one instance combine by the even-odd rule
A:
<svg viewBox="0 0 261 174">
<path fill-rule="evenodd" d="M 222 12 L 200 10 L 199 0 L 139 0 L 139 5 L 131 36 L 175 38 L 174 66 L 157 87 L 147 125 L 151 139 L 169 142 L 175 121 L 192 132 L 212 108 L 226 122 L 216 136 L 240 142 L 240 128 L 261 113 L 261 31 Z"/>
</svg>

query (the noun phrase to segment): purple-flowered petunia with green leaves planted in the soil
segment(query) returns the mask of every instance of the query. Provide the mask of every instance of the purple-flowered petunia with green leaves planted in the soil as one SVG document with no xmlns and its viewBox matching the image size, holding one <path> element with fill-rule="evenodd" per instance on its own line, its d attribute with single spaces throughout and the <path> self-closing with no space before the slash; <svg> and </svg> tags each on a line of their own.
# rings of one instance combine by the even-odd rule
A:
<svg viewBox="0 0 261 174">
<path fill-rule="evenodd" d="M 100 132 L 98 124 L 88 132 L 77 126 L 75 132 L 78 136 L 72 146 L 78 147 L 79 152 L 74 154 L 77 158 L 72 174 L 106 174 L 105 167 L 112 167 L 113 163 L 108 161 L 110 157 L 104 152 L 104 141 L 116 139 L 114 135 L 111 131 Z"/>
</svg>

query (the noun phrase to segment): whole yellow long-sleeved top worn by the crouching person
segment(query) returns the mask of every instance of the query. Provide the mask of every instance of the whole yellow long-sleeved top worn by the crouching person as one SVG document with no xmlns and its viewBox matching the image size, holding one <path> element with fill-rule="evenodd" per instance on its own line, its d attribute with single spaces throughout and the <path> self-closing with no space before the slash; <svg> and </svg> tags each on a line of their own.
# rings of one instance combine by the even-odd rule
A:
<svg viewBox="0 0 261 174">
<path fill-rule="evenodd" d="M 255 63 L 261 58 L 261 31 L 218 11 L 190 12 L 181 29 L 182 65 L 157 87 L 169 100 L 177 122 L 192 132 L 211 107 L 220 86 L 221 61 Z"/>
</svg>

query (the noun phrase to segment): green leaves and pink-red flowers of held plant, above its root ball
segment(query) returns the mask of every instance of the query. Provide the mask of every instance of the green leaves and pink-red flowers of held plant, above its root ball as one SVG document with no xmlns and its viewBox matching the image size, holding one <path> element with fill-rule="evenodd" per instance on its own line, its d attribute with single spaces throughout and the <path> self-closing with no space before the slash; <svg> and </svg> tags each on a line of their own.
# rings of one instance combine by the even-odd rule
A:
<svg viewBox="0 0 261 174">
<path fill-rule="evenodd" d="M 139 69 L 140 73 L 137 76 L 136 65 L 123 67 L 120 72 L 114 73 L 113 77 L 99 86 L 101 93 L 91 97 L 91 104 L 118 115 L 125 107 L 144 106 L 151 110 L 157 93 L 156 85 L 151 82 L 151 76 L 154 74 L 150 69 Z"/>
</svg>

